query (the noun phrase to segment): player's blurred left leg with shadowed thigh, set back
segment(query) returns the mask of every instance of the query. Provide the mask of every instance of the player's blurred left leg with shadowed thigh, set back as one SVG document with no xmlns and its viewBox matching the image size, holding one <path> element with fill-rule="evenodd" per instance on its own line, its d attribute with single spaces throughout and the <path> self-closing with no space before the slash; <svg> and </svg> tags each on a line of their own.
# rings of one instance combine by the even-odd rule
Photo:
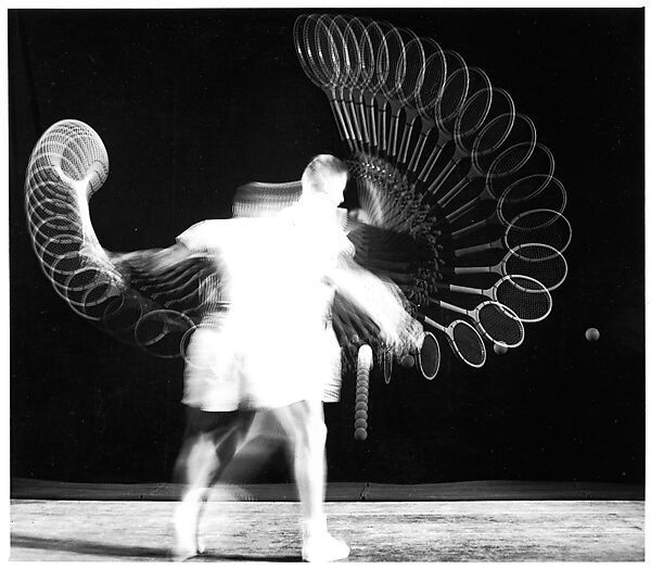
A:
<svg viewBox="0 0 651 569">
<path fill-rule="evenodd" d="M 248 413 L 188 408 L 186 438 L 175 466 L 175 481 L 183 484 L 174 517 L 175 558 L 187 559 L 203 549 L 197 543 L 199 521 L 210 485 L 242 444 L 251 420 Z"/>
</svg>

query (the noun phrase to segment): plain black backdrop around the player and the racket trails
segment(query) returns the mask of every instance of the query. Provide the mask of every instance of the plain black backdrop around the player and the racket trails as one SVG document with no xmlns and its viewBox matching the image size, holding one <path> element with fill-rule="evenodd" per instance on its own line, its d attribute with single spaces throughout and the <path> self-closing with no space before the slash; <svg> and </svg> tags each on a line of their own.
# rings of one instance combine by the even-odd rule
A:
<svg viewBox="0 0 651 569">
<path fill-rule="evenodd" d="M 299 13 L 9 12 L 12 476 L 168 480 L 182 431 L 181 363 L 89 326 L 39 271 L 23 213 L 37 138 L 62 118 L 90 124 L 111 160 L 91 205 L 100 241 L 167 245 L 228 215 L 238 185 L 344 153 L 294 53 Z M 433 37 L 509 90 L 553 151 L 574 239 L 554 309 L 522 347 L 472 370 L 443 346 L 432 382 L 374 377 L 365 443 L 347 378 L 327 408 L 330 479 L 642 481 L 643 12 L 356 13 Z"/>
</svg>

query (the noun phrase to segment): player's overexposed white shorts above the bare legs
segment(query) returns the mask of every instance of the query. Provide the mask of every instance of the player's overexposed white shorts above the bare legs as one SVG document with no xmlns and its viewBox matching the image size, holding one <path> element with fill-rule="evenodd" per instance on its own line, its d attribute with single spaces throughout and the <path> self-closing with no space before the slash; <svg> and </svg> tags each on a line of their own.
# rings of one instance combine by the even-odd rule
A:
<svg viewBox="0 0 651 569">
<path fill-rule="evenodd" d="M 226 317 L 200 325 L 186 357 L 186 405 L 207 412 L 339 401 L 341 350 L 331 327 L 301 339 L 271 331 L 233 333 Z"/>
</svg>

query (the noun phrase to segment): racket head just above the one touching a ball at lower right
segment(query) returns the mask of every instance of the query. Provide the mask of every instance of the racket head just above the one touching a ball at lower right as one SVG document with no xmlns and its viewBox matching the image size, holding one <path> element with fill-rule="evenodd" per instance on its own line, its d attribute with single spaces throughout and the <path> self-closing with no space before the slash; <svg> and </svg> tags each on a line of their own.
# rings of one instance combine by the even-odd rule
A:
<svg viewBox="0 0 651 569">
<path fill-rule="evenodd" d="M 493 286 L 493 291 L 494 300 L 511 308 L 523 323 L 539 323 L 551 313 L 551 294 L 534 278 L 507 275 Z"/>
</svg>

